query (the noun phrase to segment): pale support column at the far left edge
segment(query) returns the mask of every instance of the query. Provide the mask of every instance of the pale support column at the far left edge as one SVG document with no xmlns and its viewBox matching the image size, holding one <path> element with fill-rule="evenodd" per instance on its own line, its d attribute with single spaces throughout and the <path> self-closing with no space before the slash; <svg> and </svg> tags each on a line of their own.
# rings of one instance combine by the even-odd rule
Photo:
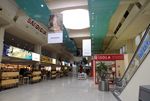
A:
<svg viewBox="0 0 150 101">
<path fill-rule="evenodd" d="M 5 33 L 5 28 L 0 27 L 0 63 L 2 61 L 2 56 L 3 56 L 4 33 Z"/>
</svg>

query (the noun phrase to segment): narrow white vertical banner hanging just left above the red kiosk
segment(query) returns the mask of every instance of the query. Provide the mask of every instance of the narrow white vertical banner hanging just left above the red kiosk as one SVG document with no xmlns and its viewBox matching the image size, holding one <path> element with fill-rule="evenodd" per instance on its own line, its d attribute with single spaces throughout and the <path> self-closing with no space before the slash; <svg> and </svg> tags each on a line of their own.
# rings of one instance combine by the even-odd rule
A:
<svg viewBox="0 0 150 101">
<path fill-rule="evenodd" d="M 82 40 L 82 55 L 91 56 L 91 39 Z"/>
</svg>

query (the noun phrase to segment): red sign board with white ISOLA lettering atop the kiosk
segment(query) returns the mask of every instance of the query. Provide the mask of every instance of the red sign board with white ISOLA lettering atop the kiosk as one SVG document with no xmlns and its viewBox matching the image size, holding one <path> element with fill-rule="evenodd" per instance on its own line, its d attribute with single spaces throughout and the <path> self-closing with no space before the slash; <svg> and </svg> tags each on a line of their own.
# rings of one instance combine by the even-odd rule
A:
<svg viewBox="0 0 150 101">
<path fill-rule="evenodd" d="M 114 60 L 123 60 L 123 54 L 97 54 L 94 56 L 94 60 L 97 61 L 114 61 Z"/>
</svg>

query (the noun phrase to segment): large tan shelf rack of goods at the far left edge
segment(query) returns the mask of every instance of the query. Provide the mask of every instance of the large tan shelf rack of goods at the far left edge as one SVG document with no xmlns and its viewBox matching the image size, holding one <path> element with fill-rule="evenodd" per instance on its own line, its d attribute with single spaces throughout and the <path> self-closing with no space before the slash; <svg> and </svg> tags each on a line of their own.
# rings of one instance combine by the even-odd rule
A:
<svg viewBox="0 0 150 101">
<path fill-rule="evenodd" d="M 19 71 L 17 66 L 11 64 L 1 64 L 0 87 L 1 89 L 18 86 Z"/>
</svg>

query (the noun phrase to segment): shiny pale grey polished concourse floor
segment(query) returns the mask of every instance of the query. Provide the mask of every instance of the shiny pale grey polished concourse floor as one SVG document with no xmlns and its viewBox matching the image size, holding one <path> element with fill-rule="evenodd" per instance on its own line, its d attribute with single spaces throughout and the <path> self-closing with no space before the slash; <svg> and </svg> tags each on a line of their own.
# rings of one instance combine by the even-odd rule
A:
<svg viewBox="0 0 150 101">
<path fill-rule="evenodd" d="M 92 80 L 60 78 L 0 92 L 0 101 L 117 101 Z"/>
</svg>

